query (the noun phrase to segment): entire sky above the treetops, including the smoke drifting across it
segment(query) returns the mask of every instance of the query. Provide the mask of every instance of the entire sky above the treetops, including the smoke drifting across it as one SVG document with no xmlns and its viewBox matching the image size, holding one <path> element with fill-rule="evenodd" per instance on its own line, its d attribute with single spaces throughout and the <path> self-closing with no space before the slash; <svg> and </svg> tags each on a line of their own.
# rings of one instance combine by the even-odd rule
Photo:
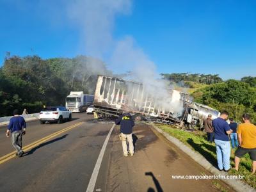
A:
<svg viewBox="0 0 256 192">
<path fill-rule="evenodd" d="M 6 52 L 84 54 L 116 73 L 140 61 L 157 74 L 256 76 L 254 0 L 0 0 L 0 23 L 0 65 Z"/>
</svg>

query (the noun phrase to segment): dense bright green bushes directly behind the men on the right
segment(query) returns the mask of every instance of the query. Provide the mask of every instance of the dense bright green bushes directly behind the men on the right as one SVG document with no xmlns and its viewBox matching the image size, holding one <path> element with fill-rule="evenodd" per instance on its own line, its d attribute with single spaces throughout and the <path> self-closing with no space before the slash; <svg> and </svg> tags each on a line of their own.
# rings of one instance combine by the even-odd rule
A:
<svg viewBox="0 0 256 192">
<path fill-rule="evenodd" d="M 248 83 L 228 80 L 212 84 L 193 93 L 195 102 L 199 102 L 219 111 L 227 110 L 230 116 L 240 121 L 243 113 L 250 113 L 256 122 L 256 88 Z"/>
</svg>

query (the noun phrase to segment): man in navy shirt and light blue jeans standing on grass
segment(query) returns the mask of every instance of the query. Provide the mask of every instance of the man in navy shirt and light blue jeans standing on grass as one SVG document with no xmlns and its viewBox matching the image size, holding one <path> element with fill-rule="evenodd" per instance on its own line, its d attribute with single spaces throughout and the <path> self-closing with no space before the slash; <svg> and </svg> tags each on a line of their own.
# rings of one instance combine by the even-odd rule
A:
<svg viewBox="0 0 256 192">
<path fill-rule="evenodd" d="M 232 133 L 226 120 L 228 119 L 228 112 L 222 111 L 220 117 L 212 121 L 214 127 L 214 142 L 216 144 L 216 154 L 219 170 L 228 172 L 230 169 L 230 141 L 228 134 Z"/>
</svg>

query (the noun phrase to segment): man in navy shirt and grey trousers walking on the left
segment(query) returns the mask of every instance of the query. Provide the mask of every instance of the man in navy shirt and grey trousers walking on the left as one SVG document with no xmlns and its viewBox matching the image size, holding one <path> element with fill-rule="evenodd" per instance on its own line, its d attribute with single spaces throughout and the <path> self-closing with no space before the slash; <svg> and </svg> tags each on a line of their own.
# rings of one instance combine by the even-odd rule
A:
<svg viewBox="0 0 256 192">
<path fill-rule="evenodd" d="M 26 134 L 26 122 L 22 116 L 19 116 L 18 109 L 13 111 L 13 117 L 10 119 L 6 137 L 12 134 L 12 145 L 17 150 L 16 156 L 21 157 L 24 152 L 22 150 L 22 134 Z"/>
</svg>

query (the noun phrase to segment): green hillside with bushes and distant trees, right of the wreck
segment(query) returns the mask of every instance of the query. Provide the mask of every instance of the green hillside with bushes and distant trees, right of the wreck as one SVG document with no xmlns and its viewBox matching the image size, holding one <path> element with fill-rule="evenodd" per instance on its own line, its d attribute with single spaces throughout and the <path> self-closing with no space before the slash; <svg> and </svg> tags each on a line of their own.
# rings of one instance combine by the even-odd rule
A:
<svg viewBox="0 0 256 192">
<path fill-rule="evenodd" d="M 249 113 L 256 124 L 256 77 L 243 77 L 240 81 L 223 81 L 218 75 L 162 74 L 176 90 L 190 93 L 195 102 L 218 111 L 227 110 L 230 117 L 241 122 L 243 113 Z"/>
</svg>

